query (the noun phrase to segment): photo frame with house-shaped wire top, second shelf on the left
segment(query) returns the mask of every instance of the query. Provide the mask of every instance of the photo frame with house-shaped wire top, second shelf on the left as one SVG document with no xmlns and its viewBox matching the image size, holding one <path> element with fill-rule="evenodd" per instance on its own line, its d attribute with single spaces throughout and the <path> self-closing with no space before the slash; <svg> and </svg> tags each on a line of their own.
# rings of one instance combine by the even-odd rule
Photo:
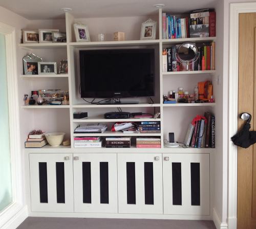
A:
<svg viewBox="0 0 256 229">
<path fill-rule="evenodd" d="M 25 75 L 37 75 L 38 74 L 38 62 L 42 61 L 41 57 L 35 54 L 29 54 L 23 57 L 23 68 Z"/>
</svg>

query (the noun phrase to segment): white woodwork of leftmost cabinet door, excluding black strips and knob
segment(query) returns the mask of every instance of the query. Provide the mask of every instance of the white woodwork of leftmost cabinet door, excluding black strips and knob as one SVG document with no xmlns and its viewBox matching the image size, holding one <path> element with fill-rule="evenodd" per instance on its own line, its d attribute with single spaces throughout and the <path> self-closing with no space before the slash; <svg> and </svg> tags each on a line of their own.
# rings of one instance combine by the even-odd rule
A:
<svg viewBox="0 0 256 229">
<path fill-rule="evenodd" d="M 65 160 L 68 156 L 69 160 Z M 30 153 L 30 192 L 32 212 L 74 212 L 73 200 L 73 154 Z M 48 203 L 40 202 L 39 162 L 47 163 Z M 64 163 L 65 203 L 57 203 L 56 162 Z"/>
</svg>

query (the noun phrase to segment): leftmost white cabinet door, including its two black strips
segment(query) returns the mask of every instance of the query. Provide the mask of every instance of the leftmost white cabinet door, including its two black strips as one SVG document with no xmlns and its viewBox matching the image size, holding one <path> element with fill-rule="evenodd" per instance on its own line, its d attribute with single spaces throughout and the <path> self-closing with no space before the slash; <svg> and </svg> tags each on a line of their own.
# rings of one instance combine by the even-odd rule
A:
<svg viewBox="0 0 256 229">
<path fill-rule="evenodd" d="M 74 212 L 71 153 L 30 153 L 32 212 Z"/>
</svg>

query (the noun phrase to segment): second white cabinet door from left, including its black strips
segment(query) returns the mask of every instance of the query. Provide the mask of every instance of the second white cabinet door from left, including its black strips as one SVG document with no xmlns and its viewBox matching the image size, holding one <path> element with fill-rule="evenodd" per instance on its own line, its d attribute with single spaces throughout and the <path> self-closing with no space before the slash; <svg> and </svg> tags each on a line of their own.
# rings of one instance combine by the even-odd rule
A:
<svg viewBox="0 0 256 229">
<path fill-rule="evenodd" d="M 116 153 L 73 156 L 75 212 L 117 213 Z"/>
</svg>

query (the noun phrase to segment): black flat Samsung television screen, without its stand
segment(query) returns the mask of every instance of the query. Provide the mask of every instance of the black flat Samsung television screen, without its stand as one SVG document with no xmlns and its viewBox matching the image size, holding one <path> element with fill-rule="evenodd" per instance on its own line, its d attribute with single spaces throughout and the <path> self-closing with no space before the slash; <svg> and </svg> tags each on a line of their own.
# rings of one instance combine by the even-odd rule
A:
<svg viewBox="0 0 256 229">
<path fill-rule="evenodd" d="M 154 96 L 154 49 L 80 50 L 81 98 Z"/>
</svg>

